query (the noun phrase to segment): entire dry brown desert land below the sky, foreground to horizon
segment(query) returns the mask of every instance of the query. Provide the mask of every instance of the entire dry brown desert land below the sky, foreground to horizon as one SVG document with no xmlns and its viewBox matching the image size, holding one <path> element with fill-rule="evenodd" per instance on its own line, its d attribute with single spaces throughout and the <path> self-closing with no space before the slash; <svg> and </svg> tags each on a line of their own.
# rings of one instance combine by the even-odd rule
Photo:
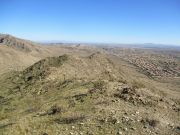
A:
<svg viewBox="0 0 180 135">
<path fill-rule="evenodd" d="M 1 72 L 1 134 L 180 134 L 177 51 L 41 46 L 13 38 L 13 47 L 1 40 L 2 61 L 17 55 L 12 64 L 24 68 Z M 19 42 L 32 45 L 19 50 Z"/>
</svg>

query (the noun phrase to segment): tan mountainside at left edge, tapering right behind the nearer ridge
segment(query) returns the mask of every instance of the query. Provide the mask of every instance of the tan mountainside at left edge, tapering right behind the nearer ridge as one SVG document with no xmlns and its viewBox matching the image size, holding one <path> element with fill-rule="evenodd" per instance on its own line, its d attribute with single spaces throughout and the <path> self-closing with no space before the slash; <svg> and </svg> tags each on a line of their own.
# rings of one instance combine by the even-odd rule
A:
<svg viewBox="0 0 180 135">
<path fill-rule="evenodd" d="M 77 48 L 69 45 L 42 45 L 11 35 L 0 34 L 0 74 L 9 71 L 22 71 L 35 62 L 63 54 L 88 55 L 90 48 Z"/>
</svg>

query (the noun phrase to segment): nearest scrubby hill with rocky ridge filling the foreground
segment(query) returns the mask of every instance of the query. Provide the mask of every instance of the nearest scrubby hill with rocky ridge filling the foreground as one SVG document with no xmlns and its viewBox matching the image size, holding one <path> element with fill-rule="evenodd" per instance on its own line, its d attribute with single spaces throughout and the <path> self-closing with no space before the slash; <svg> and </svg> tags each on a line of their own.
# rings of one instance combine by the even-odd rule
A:
<svg viewBox="0 0 180 135">
<path fill-rule="evenodd" d="M 179 98 L 138 81 L 142 75 L 119 61 L 62 55 L 4 74 L 0 133 L 178 134 Z"/>
</svg>

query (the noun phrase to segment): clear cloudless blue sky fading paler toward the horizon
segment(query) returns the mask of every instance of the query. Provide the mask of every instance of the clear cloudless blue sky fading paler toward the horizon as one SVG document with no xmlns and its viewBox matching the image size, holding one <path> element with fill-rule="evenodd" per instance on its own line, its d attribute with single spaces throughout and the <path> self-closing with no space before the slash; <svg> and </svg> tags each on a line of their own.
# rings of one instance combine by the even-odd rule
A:
<svg viewBox="0 0 180 135">
<path fill-rule="evenodd" d="M 180 0 L 0 0 L 0 33 L 42 42 L 180 45 Z"/>
</svg>

